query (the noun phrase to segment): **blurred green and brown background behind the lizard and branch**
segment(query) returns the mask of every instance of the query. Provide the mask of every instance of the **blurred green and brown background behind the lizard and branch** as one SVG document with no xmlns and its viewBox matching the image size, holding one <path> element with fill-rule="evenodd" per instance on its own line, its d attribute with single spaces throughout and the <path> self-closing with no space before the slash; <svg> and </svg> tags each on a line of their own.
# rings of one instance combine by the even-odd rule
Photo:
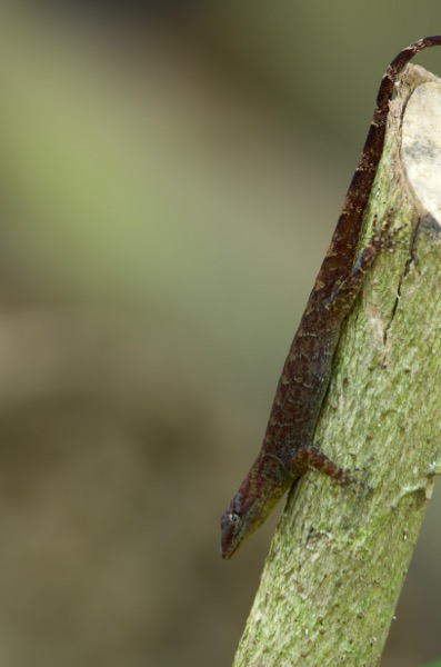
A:
<svg viewBox="0 0 441 667">
<path fill-rule="evenodd" d="M 0 2 L 0 664 L 231 664 L 219 517 L 439 0 Z M 441 73 L 441 50 L 419 62 Z M 418 442 L 414 444 L 418 447 Z M 441 656 L 435 489 L 383 665 Z"/>
</svg>

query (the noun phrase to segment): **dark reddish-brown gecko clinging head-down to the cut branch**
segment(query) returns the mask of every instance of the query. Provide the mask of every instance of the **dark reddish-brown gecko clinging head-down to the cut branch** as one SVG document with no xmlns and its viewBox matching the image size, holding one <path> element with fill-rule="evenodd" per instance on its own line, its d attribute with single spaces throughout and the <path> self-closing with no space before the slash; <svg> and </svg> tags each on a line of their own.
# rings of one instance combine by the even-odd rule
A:
<svg viewBox="0 0 441 667">
<path fill-rule="evenodd" d="M 384 240 L 388 230 L 383 229 L 381 233 L 373 231 L 368 245 L 359 248 L 364 212 L 384 147 L 389 103 L 408 62 L 435 46 L 441 46 L 441 36 L 413 42 L 392 60 L 381 80 L 363 151 L 284 362 L 261 450 L 221 517 L 222 558 L 228 559 L 237 551 L 309 468 L 341 485 L 363 485 L 352 470 L 339 467 L 315 447 L 313 436 L 342 323 L 362 287 L 365 271 L 388 246 Z"/>
</svg>

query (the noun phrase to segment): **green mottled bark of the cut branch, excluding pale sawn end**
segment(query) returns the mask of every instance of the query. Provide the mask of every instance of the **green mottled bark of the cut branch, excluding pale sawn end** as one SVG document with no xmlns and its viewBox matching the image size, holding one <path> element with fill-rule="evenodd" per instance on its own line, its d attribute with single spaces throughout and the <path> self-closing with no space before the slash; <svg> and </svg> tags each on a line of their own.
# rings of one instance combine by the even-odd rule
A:
<svg viewBox="0 0 441 667">
<path fill-rule="evenodd" d="M 367 218 L 393 209 L 398 242 L 344 323 L 315 442 L 372 490 L 311 471 L 291 490 L 234 665 L 378 665 L 439 469 L 441 232 L 410 192 L 401 119 L 422 82 L 409 67 L 391 104 Z M 438 462 L 437 462 L 438 461 Z"/>
</svg>

